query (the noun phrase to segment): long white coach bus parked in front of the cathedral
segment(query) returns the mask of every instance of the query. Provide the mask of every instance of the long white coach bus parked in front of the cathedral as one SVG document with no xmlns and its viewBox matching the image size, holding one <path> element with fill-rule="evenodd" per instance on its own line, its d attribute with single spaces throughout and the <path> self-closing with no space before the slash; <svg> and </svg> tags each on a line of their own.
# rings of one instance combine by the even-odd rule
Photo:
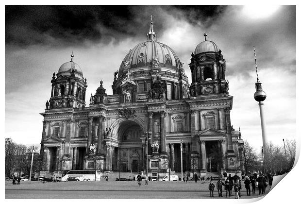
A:
<svg viewBox="0 0 301 204">
<path fill-rule="evenodd" d="M 80 181 L 100 181 L 101 176 L 100 170 L 69 170 L 62 177 L 62 181 L 67 181 L 69 177 L 76 177 Z"/>
</svg>

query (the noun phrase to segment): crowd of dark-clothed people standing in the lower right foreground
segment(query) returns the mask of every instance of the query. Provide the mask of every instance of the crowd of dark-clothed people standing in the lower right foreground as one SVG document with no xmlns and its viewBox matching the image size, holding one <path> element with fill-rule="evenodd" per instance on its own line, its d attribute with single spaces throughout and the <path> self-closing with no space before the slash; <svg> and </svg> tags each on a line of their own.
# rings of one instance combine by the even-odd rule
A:
<svg viewBox="0 0 301 204">
<path fill-rule="evenodd" d="M 227 172 L 225 172 L 224 174 L 224 182 L 222 182 L 221 178 L 219 177 L 218 181 L 217 181 L 217 190 L 218 190 L 218 197 L 223 197 L 222 196 L 222 186 L 224 186 L 224 189 L 226 191 L 226 198 L 233 196 L 233 189 L 234 189 L 234 197 L 235 199 L 239 199 L 241 197 L 241 193 L 240 190 L 242 189 L 241 187 L 241 182 L 242 180 L 240 179 L 240 177 L 237 175 L 237 173 L 235 173 L 234 176 L 232 176 L 231 174 L 227 175 Z M 242 176 L 243 177 L 243 176 Z M 247 196 L 251 196 L 251 187 L 252 187 L 252 194 L 256 194 L 256 186 L 259 189 L 259 195 L 263 194 L 266 192 L 266 187 L 268 187 L 268 185 L 271 187 L 272 186 L 272 182 L 273 182 L 273 177 L 271 174 L 268 175 L 263 175 L 263 174 L 257 174 L 257 172 L 255 171 L 253 173 L 253 175 L 249 175 L 249 176 L 244 176 L 243 177 L 244 180 L 244 184 L 246 187 L 246 191 L 247 191 Z M 251 187 L 250 187 L 251 184 Z M 209 184 L 209 191 L 210 191 L 210 197 L 214 197 L 214 188 L 215 185 L 213 184 L 213 181 L 210 181 Z"/>
</svg>

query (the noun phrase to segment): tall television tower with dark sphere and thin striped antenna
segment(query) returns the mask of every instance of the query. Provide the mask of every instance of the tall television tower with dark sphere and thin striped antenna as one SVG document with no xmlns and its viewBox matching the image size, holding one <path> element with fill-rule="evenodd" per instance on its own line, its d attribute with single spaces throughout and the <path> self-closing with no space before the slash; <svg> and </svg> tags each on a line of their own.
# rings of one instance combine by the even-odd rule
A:
<svg viewBox="0 0 301 204">
<path fill-rule="evenodd" d="M 261 82 L 258 78 L 258 70 L 257 70 L 257 63 L 256 63 L 256 52 L 254 48 L 254 57 L 255 57 L 255 68 L 256 68 L 256 77 L 257 82 L 255 83 L 256 92 L 254 93 L 254 99 L 258 102 L 259 111 L 260 111 L 260 121 L 261 121 L 261 134 L 262 134 L 262 143 L 263 143 L 263 150 L 266 151 L 266 123 L 264 118 L 264 111 L 263 111 L 263 101 L 267 98 L 267 94 L 262 90 Z"/>
</svg>

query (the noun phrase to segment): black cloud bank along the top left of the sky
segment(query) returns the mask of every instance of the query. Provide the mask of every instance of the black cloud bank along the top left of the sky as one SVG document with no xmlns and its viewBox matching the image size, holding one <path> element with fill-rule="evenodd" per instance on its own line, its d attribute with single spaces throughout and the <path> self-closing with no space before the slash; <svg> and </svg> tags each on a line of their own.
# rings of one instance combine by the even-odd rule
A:
<svg viewBox="0 0 301 204">
<path fill-rule="evenodd" d="M 85 41 L 108 43 L 127 37 L 144 39 L 149 16 L 155 16 L 155 31 L 172 26 L 166 15 L 186 18 L 190 23 L 209 23 L 224 6 L 169 5 L 73 5 L 5 6 L 5 43 L 19 46 L 82 44 Z"/>
</svg>

